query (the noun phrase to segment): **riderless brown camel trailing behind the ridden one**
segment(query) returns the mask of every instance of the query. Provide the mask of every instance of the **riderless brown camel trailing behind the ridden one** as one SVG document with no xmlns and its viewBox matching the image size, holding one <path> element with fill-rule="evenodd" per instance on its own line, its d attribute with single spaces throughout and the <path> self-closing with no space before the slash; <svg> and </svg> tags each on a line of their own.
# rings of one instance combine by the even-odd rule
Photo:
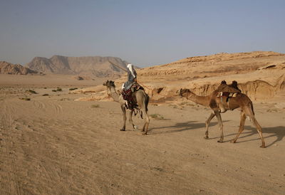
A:
<svg viewBox="0 0 285 195">
<path fill-rule="evenodd" d="M 260 147 L 265 148 L 265 142 L 262 136 L 261 126 L 254 117 L 254 107 L 252 105 L 252 100 L 250 100 L 249 97 L 244 93 L 237 93 L 237 96 L 230 97 L 228 102 L 226 100 L 222 101 L 221 97 L 217 97 L 218 93 L 220 93 L 218 90 L 214 90 L 214 92 L 210 95 L 199 96 L 196 95 L 195 93 L 192 93 L 189 89 L 180 89 L 180 95 L 182 97 L 186 97 L 187 100 L 191 100 L 192 102 L 196 102 L 199 105 L 204 105 L 212 109 L 211 115 L 209 115 L 209 118 L 206 120 L 206 132 L 204 139 L 209 139 L 208 136 L 209 123 L 211 122 L 212 118 L 216 116 L 219 122 L 219 129 L 221 131 L 220 139 L 217 142 L 222 143 L 224 140 L 224 133 L 223 133 L 222 117 L 220 113 L 227 112 L 227 110 L 235 110 L 239 108 L 239 110 L 241 110 L 239 131 L 237 133 L 237 136 L 234 139 L 232 139 L 231 142 L 232 143 L 237 142 L 237 138 L 244 130 L 244 122 L 247 116 L 249 116 L 250 120 L 257 128 L 257 132 L 259 133 L 259 137 L 262 143 Z"/>
</svg>

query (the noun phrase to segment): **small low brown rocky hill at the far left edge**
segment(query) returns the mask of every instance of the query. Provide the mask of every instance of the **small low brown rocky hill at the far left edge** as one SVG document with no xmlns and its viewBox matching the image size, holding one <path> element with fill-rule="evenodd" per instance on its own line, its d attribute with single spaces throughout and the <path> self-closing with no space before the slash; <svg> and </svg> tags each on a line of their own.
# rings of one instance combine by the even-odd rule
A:
<svg viewBox="0 0 285 195">
<path fill-rule="evenodd" d="M 26 68 L 23 65 L 0 61 L 0 74 L 27 75 L 36 73 L 36 71 Z"/>
</svg>

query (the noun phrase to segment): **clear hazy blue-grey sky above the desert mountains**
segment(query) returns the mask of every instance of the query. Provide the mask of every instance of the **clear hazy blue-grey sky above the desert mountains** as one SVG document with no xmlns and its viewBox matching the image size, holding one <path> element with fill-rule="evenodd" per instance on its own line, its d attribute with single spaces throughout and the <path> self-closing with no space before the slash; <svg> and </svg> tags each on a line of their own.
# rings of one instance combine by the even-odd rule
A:
<svg viewBox="0 0 285 195">
<path fill-rule="evenodd" d="M 0 60 L 113 56 L 139 67 L 285 53 L 285 1 L 0 0 Z"/>
</svg>

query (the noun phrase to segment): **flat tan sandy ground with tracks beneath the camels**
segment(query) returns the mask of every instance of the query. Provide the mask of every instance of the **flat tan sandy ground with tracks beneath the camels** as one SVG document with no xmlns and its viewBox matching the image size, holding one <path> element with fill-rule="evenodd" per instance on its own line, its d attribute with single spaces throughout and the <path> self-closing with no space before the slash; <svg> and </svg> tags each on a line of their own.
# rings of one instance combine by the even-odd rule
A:
<svg viewBox="0 0 285 195">
<path fill-rule="evenodd" d="M 284 194 L 285 109 L 276 103 L 254 102 L 261 149 L 249 120 L 229 142 L 237 110 L 222 114 L 224 143 L 216 119 L 203 139 L 210 110 L 187 100 L 150 105 L 147 136 L 129 123 L 120 132 L 118 103 L 74 101 L 82 96 L 68 94 L 76 83 L 1 83 L 0 194 Z"/>
</svg>

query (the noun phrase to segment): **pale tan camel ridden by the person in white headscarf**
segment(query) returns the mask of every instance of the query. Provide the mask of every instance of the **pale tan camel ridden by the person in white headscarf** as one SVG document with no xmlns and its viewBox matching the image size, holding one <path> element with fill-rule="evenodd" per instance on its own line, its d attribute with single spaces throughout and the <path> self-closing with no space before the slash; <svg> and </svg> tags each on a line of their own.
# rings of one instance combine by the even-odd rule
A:
<svg viewBox="0 0 285 195">
<path fill-rule="evenodd" d="M 103 83 L 107 87 L 108 90 L 110 90 L 110 95 L 113 98 L 115 102 L 120 103 L 120 107 L 123 111 L 123 128 L 120 129 L 120 131 L 125 131 L 125 122 L 127 120 L 126 117 L 126 106 L 125 106 L 125 100 L 123 99 L 123 95 L 118 94 L 118 92 L 115 90 L 115 82 L 112 80 L 107 80 L 106 83 Z M 147 135 L 148 125 L 150 124 L 150 118 L 147 115 L 147 105 L 150 100 L 150 97 L 145 93 L 143 90 L 138 90 L 133 93 L 133 98 L 138 104 L 139 109 L 141 110 L 141 117 L 145 117 L 145 125 L 142 127 L 142 135 Z M 136 129 L 136 126 L 133 124 L 133 110 L 130 110 L 130 124 L 133 126 L 133 129 Z"/>
</svg>

